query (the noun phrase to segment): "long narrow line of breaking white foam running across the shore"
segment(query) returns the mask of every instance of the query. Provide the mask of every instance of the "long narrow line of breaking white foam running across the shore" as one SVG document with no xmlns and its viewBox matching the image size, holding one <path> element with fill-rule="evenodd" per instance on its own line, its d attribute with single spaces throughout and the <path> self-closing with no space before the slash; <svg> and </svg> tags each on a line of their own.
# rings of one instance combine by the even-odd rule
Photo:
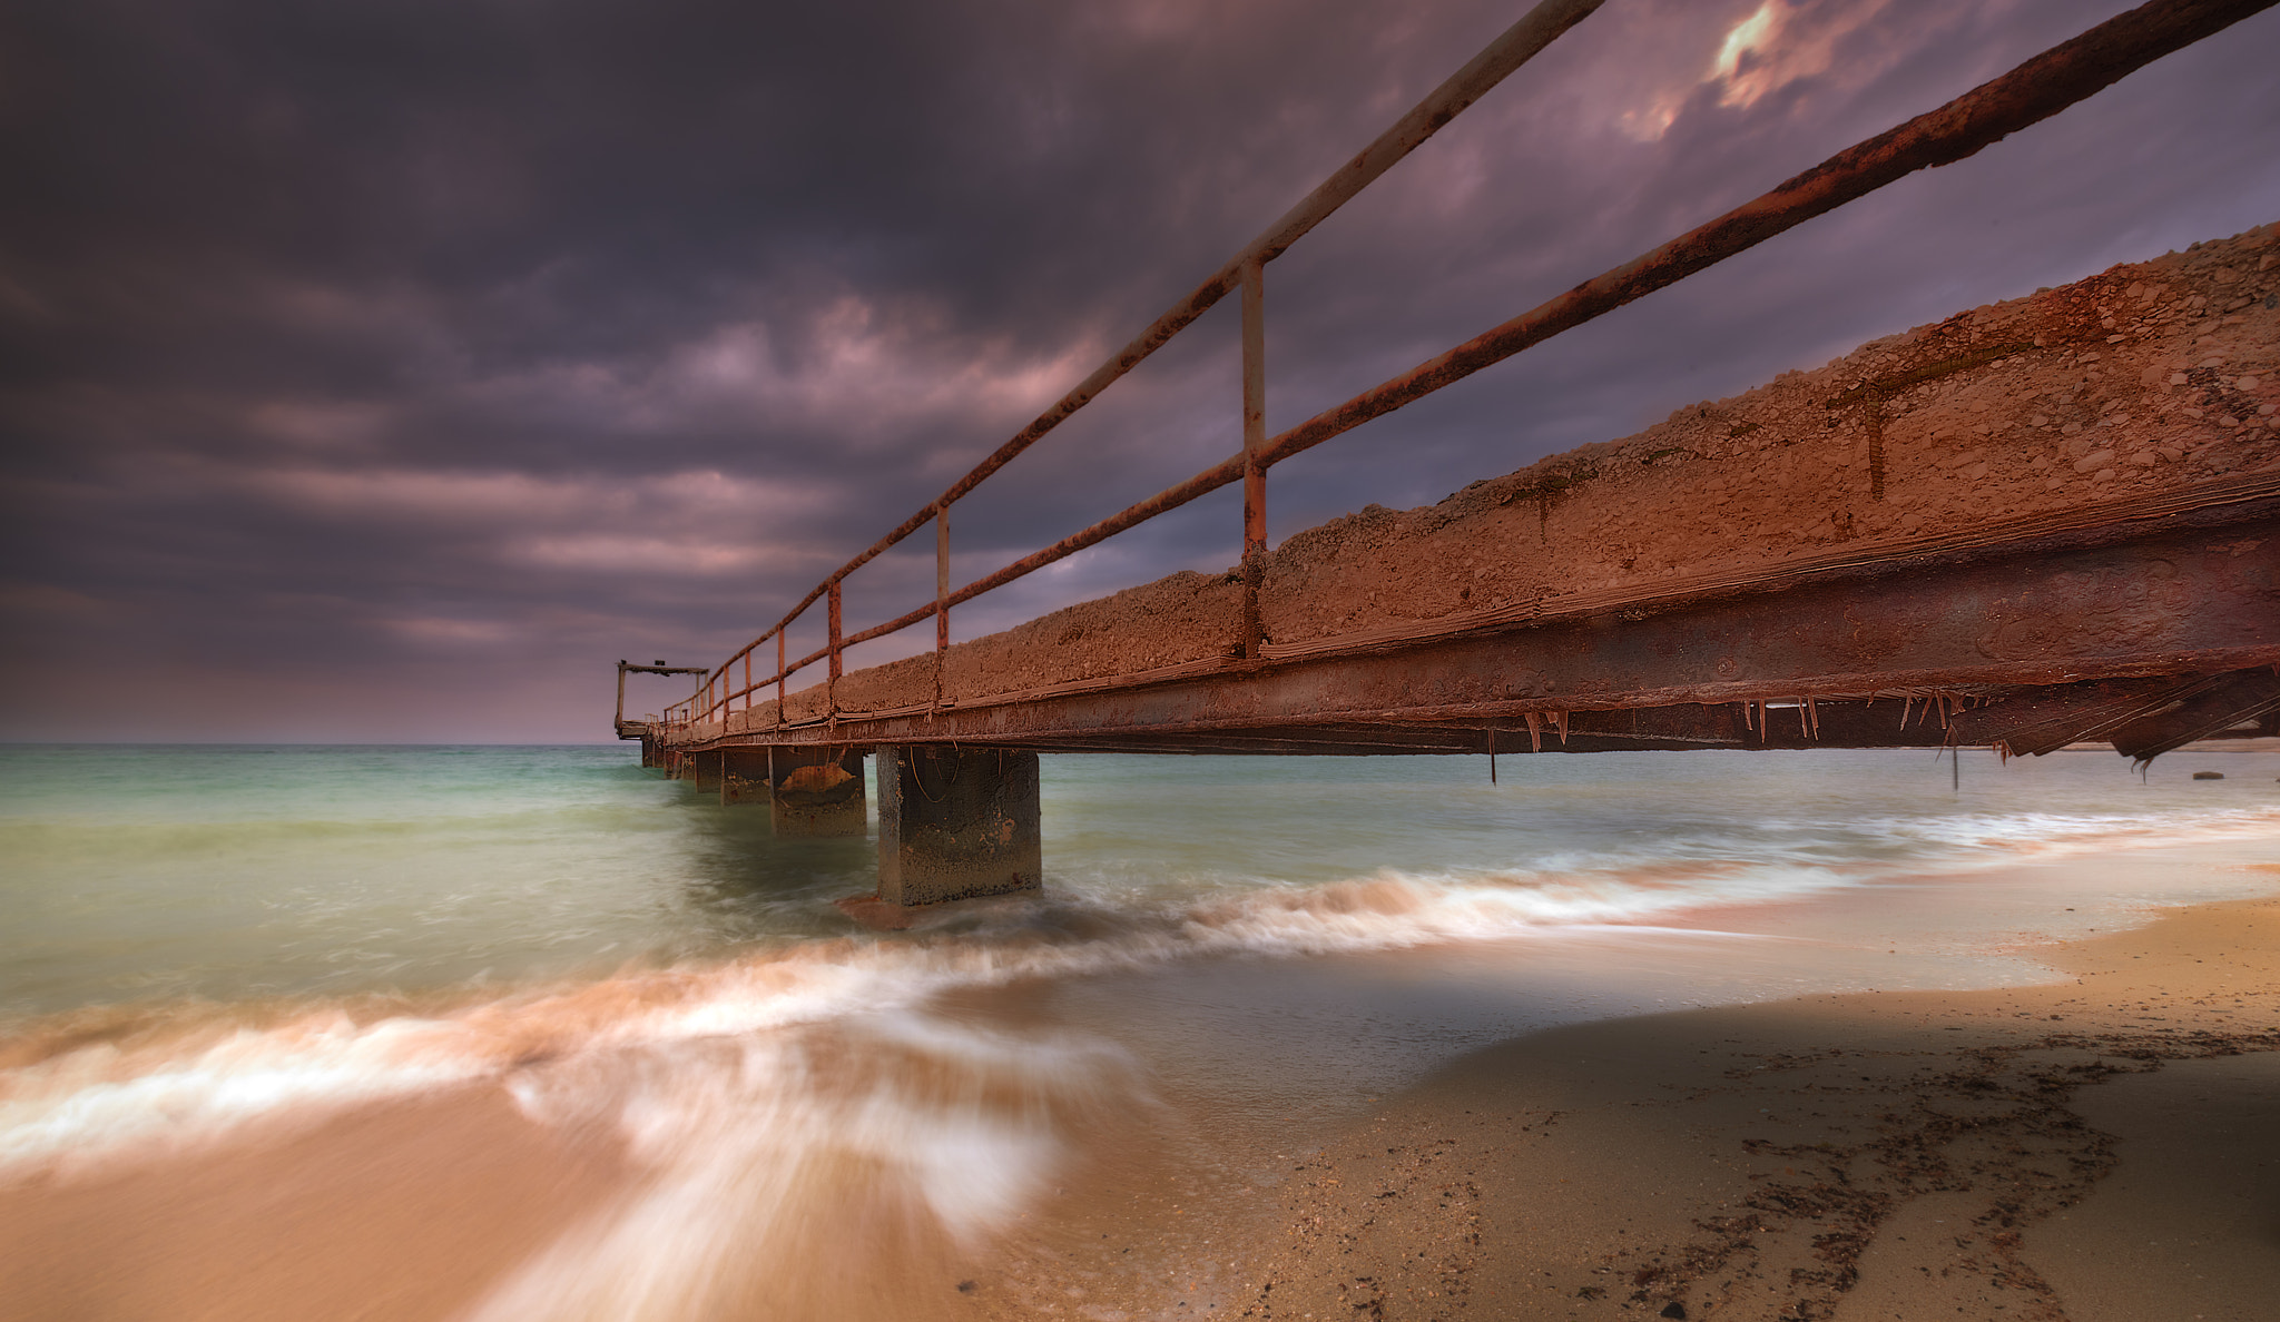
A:
<svg viewBox="0 0 2280 1322">
<path fill-rule="evenodd" d="M 1872 827 L 1870 827 L 1872 830 Z M 1922 823 L 1911 823 L 1922 832 Z M 2269 834 L 2246 811 L 2193 823 L 1947 823 L 1945 857 L 1990 857 Z M 1799 850 L 1803 852 L 1803 850 Z M 212 1142 L 244 1126 L 470 1083 L 527 1087 L 529 1060 L 627 1058 L 679 1042 L 743 1039 L 848 1014 L 923 1005 L 955 987 L 1076 978 L 1197 957 L 1297 957 L 1420 944 L 1653 928 L 1705 905 L 1794 900 L 1860 887 L 1899 864 L 1858 859 L 1655 859 L 1578 871 L 1475 871 L 1290 887 L 1220 884 L 1165 898 L 1069 884 L 1044 900 L 980 905 L 905 937 L 839 937 L 768 953 L 629 971 L 586 985 L 470 1001 L 440 1014 L 351 1019 L 315 1003 L 280 1023 L 98 1042 L 0 1071 L 0 1174 L 66 1172 L 109 1156 Z"/>
</svg>

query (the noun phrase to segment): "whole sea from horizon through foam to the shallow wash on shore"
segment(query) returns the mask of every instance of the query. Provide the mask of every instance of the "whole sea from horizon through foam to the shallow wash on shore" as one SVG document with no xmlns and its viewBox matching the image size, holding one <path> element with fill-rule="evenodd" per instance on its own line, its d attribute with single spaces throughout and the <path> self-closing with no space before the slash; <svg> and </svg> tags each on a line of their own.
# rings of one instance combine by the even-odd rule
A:
<svg viewBox="0 0 2280 1322">
<path fill-rule="evenodd" d="M 1072 1188 L 1265 1188 L 1507 1037 L 2052 980 L 2275 893 L 2275 782 L 1047 754 L 1044 891 L 876 932 L 876 823 L 629 745 L 0 748 L 0 1317 L 960 1315 Z"/>
</svg>

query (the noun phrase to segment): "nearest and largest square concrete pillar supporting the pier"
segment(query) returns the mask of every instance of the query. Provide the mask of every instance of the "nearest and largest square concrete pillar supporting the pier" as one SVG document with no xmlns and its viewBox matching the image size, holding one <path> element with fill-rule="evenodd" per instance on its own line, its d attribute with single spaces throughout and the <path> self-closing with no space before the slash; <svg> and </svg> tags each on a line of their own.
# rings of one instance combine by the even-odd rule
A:
<svg viewBox="0 0 2280 1322">
<path fill-rule="evenodd" d="M 878 750 L 878 898 L 935 905 L 1044 884 L 1037 754 Z"/>
</svg>

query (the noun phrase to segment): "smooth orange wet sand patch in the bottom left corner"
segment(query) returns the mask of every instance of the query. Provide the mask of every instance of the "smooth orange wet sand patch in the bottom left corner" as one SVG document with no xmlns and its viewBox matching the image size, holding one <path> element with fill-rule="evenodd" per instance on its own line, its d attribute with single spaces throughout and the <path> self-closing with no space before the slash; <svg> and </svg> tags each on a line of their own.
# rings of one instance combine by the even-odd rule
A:
<svg viewBox="0 0 2280 1322">
<path fill-rule="evenodd" d="M 449 1317 L 622 1185 L 495 1087 L 0 1185 L 0 1317 Z"/>
</svg>

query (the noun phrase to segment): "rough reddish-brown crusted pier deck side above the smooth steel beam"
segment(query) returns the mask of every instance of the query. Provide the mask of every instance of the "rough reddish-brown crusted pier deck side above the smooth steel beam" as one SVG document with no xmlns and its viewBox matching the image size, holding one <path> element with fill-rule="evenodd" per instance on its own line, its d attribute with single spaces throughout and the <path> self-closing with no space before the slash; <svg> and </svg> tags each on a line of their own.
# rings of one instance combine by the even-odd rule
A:
<svg viewBox="0 0 2280 1322">
<path fill-rule="evenodd" d="M 1446 501 L 1368 506 L 1265 561 L 1268 643 L 1332 643 L 1562 597 L 1778 568 L 1840 545 L 2189 490 L 2280 463 L 2280 223 L 1988 303 L 1671 413 Z M 944 659 L 948 700 L 1240 647 L 1233 572 L 1181 572 Z M 814 684 L 787 718 L 930 702 L 935 656 Z M 734 716 L 768 727 L 775 704 Z"/>
</svg>

